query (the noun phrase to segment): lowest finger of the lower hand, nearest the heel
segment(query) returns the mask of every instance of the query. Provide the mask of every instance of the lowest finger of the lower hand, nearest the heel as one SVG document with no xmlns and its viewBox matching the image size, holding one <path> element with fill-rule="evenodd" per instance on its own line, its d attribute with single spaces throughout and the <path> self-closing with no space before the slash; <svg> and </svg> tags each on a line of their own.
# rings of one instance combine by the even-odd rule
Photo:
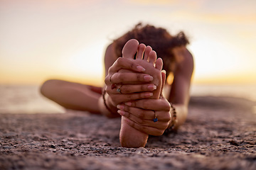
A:
<svg viewBox="0 0 256 170">
<path fill-rule="evenodd" d="M 160 136 L 160 135 L 163 135 L 164 133 L 164 130 L 159 130 L 157 128 L 152 128 L 149 126 L 139 125 L 138 123 L 135 123 L 134 121 L 129 120 L 128 118 L 125 118 L 125 117 L 123 118 L 128 125 L 148 135 Z"/>
</svg>

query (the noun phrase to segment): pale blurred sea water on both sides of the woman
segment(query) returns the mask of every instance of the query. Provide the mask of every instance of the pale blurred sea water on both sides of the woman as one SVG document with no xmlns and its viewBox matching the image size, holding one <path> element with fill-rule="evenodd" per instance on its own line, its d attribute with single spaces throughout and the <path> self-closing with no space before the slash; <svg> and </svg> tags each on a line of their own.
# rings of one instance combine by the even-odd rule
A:
<svg viewBox="0 0 256 170">
<path fill-rule="evenodd" d="M 65 113 L 41 96 L 39 86 L 0 85 L 0 113 Z M 256 102 L 256 84 L 191 85 L 191 96 L 228 96 Z"/>
</svg>

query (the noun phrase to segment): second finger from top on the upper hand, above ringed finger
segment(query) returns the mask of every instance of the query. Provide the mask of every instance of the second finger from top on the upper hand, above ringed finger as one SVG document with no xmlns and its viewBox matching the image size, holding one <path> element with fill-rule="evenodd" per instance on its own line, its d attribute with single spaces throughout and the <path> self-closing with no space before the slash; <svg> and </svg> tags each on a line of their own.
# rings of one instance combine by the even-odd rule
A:
<svg viewBox="0 0 256 170">
<path fill-rule="evenodd" d="M 106 79 L 105 79 L 106 80 Z M 147 82 L 152 81 L 153 77 L 149 74 L 142 74 L 142 73 L 134 73 L 134 72 L 117 72 L 112 74 L 111 77 L 111 84 L 125 84 L 130 82 Z M 105 83 L 110 83 L 110 79 L 107 79 Z"/>
</svg>

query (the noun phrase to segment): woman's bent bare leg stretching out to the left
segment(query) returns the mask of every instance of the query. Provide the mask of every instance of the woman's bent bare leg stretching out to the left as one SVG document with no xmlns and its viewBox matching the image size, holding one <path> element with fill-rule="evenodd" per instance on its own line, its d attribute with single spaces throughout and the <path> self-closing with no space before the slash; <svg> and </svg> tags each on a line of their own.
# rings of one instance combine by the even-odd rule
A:
<svg viewBox="0 0 256 170">
<path fill-rule="evenodd" d="M 64 108 L 100 114 L 97 107 L 101 96 L 100 88 L 51 79 L 43 83 L 41 94 Z"/>
</svg>

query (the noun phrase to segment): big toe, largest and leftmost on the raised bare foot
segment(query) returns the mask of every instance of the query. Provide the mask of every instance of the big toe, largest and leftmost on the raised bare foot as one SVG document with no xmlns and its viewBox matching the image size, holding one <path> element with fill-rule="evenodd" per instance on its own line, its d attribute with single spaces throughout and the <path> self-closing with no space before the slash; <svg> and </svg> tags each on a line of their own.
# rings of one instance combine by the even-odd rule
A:
<svg viewBox="0 0 256 170">
<path fill-rule="evenodd" d="M 138 46 L 139 42 L 135 39 L 127 41 L 122 49 L 122 57 L 133 59 L 138 50 Z"/>
</svg>

